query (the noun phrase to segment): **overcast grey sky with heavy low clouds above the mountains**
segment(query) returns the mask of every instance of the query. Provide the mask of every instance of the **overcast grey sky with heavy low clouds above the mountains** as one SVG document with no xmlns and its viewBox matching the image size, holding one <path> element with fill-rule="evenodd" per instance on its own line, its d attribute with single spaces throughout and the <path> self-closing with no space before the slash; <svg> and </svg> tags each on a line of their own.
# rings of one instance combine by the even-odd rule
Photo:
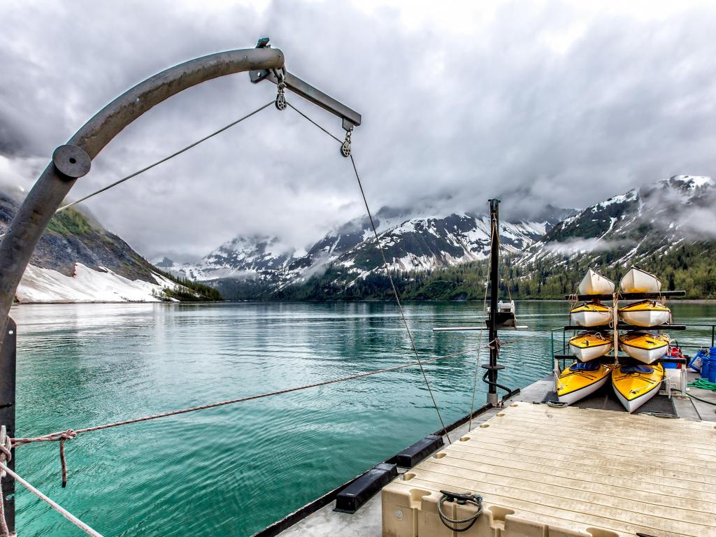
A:
<svg viewBox="0 0 716 537">
<path fill-rule="evenodd" d="M 511 220 L 582 207 L 714 175 L 715 27 L 715 7 L 687 1 L 0 0 L 0 180 L 29 188 L 125 89 L 266 35 L 290 72 L 362 113 L 353 150 L 375 211 L 481 211 L 495 195 Z M 172 97 L 115 137 L 71 197 L 275 92 L 236 74 Z M 337 118 L 288 98 L 342 136 Z M 337 143 L 274 107 L 85 205 L 143 255 L 178 261 L 240 234 L 303 246 L 364 213 Z"/>
</svg>

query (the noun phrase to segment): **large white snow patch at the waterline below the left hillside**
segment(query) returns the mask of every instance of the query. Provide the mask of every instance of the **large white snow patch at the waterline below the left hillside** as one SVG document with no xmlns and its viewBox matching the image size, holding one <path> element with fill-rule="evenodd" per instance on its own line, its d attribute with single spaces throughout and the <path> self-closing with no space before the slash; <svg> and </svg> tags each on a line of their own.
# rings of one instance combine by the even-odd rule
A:
<svg viewBox="0 0 716 537">
<path fill-rule="evenodd" d="M 21 304 L 57 302 L 159 302 L 164 287 L 177 286 L 170 279 L 152 275 L 157 281 L 132 281 L 103 269 L 94 271 L 77 263 L 74 276 L 28 265 L 15 293 Z M 155 296 L 156 295 L 156 296 Z"/>
</svg>

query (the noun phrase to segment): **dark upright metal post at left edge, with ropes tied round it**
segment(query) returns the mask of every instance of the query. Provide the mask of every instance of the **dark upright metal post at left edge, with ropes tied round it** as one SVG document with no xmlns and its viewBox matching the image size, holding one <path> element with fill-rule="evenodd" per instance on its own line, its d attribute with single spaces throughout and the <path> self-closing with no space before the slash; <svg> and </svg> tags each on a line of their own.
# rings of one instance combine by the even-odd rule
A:
<svg viewBox="0 0 716 537">
<path fill-rule="evenodd" d="M 0 347 L 0 426 L 5 434 L 15 436 L 15 359 L 17 326 L 11 318 L 7 321 L 5 339 Z M 2 439 L 4 440 L 4 439 Z M 15 469 L 15 450 L 11 451 L 12 460 L 7 463 L 10 470 Z M 5 508 L 5 521 L 13 534 L 15 531 L 15 480 L 6 475 L 2 480 L 2 497 Z"/>
</svg>

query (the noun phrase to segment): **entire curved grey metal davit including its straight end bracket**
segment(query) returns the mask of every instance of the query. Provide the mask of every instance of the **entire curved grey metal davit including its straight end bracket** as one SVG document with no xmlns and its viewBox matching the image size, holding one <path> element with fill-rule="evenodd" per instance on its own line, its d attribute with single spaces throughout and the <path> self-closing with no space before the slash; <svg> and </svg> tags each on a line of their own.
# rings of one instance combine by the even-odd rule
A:
<svg viewBox="0 0 716 537">
<path fill-rule="evenodd" d="M 360 125 L 361 116 L 284 69 L 284 54 L 260 39 L 254 49 L 218 52 L 170 67 L 140 82 L 92 117 L 67 145 L 52 155 L 0 243 L 0 345 L 4 341 L 10 307 L 27 263 L 47 224 L 77 178 L 86 175 L 92 159 L 137 117 L 160 102 L 208 80 L 251 71 L 251 82 L 284 78 L 287 89 L 341 117 L 344 129 Z"/>
</svg>

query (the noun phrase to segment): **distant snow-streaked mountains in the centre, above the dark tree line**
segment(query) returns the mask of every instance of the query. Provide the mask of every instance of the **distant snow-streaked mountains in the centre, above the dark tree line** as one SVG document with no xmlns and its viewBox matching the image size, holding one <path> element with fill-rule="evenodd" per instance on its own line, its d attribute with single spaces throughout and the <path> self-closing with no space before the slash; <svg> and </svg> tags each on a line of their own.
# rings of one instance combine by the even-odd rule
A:
<svg viewBox="0 0 716 537">
<path fill-rule="evenodd" d="M 375 216 L 379 240 L 391 269 L 420 271 L 484 259 L 490 249 L 488 216 L 474 213 L 425 216 L 413 211 L 382 208 Z M 564 210 L 551 208 L 543 221 L 504 222 L 500 246 L 517 253 L 558 223 Z M 416 214 L 418 216 L 416 216 Z M 226 293 L 226 281 L 263 284 L 281 289 L 301 283 L 329 266 L 344 269 L 352 279 L 382 271 L 382 258 L 367 216 L 355 218 L 326 233 L 309 248 L 299 250 L 279 238 L 239 236 L 224 243 L 198 263 L 183 265 L 163 259 L 160 268 L 189 279 L 213 281 Z M 231 294 L 231 293 L 229 293 Z"/>
</svg>

